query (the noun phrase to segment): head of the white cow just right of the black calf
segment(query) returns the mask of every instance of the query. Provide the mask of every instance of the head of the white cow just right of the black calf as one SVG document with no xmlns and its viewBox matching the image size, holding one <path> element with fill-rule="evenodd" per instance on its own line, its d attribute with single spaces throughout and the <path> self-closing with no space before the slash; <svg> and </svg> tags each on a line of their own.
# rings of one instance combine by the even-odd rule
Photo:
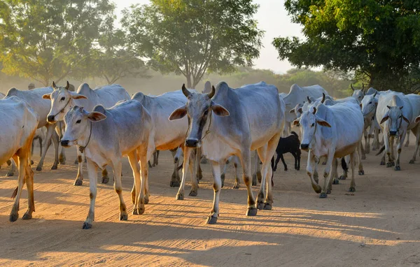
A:
<svg viewBox="0 0 420 267">
<path fill-rule="evenodd" d="M 310 150 L 312 143 L 315 141 L 315 134 L 317 125 L 321 127 L 331 127 L 328 122 L 322 120 L 316 115 L 316 108 L 313 107 L 311 110 L 305 111 L 293 122 L 293 125 L 300 125 L 300 132 L 302 133 L 302 142 L 300 142 L 300 148 L 302 150 Z"/>
</svg>

